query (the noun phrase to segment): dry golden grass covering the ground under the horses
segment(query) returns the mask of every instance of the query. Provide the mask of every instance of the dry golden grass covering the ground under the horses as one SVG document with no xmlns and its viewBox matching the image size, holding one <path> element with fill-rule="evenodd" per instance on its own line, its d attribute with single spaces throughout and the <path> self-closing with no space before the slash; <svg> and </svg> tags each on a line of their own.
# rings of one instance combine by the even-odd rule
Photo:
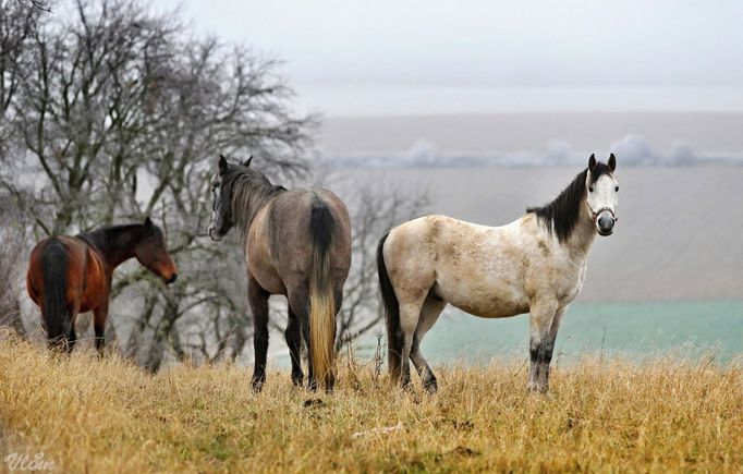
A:
<svg viewBox="0 0 743 474">
<path fill-rule="evenodd" d="M 0 447 L 44 452 L 63 472 L 743 466 L 740 364 L 588 360 L 555 370 L 549 397 L 525 393 L 520 363 L 440 368 L 433 398 L 376 380 L 372 363 L 342 364 L 333 396 L 294 389 L 285 372 L 255 394 L 249 370 L 233 366 L 150 376 L 114 357 L 0 340 Z M 387 426 L 398 428 L 374 432 Z"/>
</svg>

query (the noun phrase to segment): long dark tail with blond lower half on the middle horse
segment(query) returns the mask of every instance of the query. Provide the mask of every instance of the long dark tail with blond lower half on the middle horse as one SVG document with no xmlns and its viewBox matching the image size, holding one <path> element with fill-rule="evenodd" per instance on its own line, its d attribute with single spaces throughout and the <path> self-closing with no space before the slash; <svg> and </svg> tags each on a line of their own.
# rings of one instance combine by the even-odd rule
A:
<svg viewBox="0 0 743 474">
<path fill-rule="evenodd" d="M 309 216 L 313 239 L 313 264 L 309 271 L 309 356 L 317 380 L 326 388 L 333 384 L 336 343 L 336 295 L 330 244 L 336 228 L 330 209 L 314 199 Z"/>
</svg>

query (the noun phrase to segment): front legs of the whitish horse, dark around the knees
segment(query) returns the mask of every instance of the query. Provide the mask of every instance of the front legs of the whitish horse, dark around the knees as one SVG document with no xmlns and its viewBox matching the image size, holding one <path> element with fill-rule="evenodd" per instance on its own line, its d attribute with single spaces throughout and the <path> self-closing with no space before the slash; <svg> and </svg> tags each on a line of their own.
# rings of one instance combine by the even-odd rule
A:
<svg viewBox="0 0 743 474">
<path fill-rule="evenodd" d="M 565 307 L 558 307 L 555 301 L 540 301 L 529 313 L 529 373 L 528 390 L 545 393 L 549 388 L 549 364 L 552 361 L 555 339 Z"/>
</svg>

